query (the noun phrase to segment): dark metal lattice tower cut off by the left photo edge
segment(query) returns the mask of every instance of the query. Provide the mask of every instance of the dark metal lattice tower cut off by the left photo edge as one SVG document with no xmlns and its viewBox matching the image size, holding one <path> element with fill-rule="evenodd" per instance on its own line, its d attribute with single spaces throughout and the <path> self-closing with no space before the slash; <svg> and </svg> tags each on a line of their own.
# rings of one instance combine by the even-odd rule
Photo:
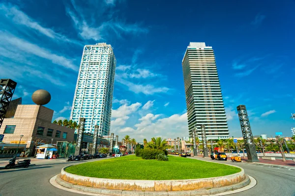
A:
<svg viewBox="0 0 295 196">
<path fill-rule="evenodd" d="M 6 115 L 16 84 L 17 83 L 11 79 L 0 79 L 0 127 Z"/>
</svg>

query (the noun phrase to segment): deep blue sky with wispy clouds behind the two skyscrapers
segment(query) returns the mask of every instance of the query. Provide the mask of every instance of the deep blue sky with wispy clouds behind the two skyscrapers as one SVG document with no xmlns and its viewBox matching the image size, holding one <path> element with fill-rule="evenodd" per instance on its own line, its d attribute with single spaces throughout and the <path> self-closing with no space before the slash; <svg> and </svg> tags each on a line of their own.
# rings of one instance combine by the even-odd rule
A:
<svg viewBox="0 0 295 196">
<path fill-rule="evenodd" d="M 106 42 L 117 70 L 111 132 L 188 135 L 181 68 L 189 42 L 215 52 L 230 136 L 245 104 L 253 135 L 291 136 L 295 122 L 295 1 L 21 0 L 0 3 L 0 78 L 32 104 L 46 89 L 69 118 L 83 46 Z"/>
</svg>

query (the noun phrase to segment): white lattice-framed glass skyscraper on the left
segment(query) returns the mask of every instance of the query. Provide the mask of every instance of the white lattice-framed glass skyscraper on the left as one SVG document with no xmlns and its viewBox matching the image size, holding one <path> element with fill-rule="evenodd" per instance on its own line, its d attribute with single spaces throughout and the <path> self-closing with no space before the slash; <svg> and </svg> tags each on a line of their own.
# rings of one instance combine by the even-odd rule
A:
<svg viewBox="0 0 295 196">
<path fill-rule="evenodd" d="M 85 118 L 85 133 L 98 125 L 98 136 L 110 135 L 115 69 L 111 45 L 84 47 L 70 119 Z"/>
</svg>

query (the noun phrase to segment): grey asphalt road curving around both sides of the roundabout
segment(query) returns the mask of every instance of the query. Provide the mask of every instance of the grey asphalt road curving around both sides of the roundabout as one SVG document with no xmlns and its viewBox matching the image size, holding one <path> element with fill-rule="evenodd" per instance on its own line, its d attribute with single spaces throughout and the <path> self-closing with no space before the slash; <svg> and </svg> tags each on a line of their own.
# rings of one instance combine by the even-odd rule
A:
<svg viewBox="0 0 295 196">
<path fill-rule="evenodd" d="M 106 158 L 94 161 L 103 159 Z M 0 170 L 0 196 L 82 196 L 57 189 L 49 183 L 49 179 L 58 174 L 61 168 L 81 162 L 61 160 L 49 164 L 41 163 L 27 169 Z M 246 174 L 257 180 L 257 185 L 252 189 L 231 196 L 295 196 L 295 168 L 285 169 L 230 161 L 227 161 L 227 164 L 242 167 Z"/>
</svg>

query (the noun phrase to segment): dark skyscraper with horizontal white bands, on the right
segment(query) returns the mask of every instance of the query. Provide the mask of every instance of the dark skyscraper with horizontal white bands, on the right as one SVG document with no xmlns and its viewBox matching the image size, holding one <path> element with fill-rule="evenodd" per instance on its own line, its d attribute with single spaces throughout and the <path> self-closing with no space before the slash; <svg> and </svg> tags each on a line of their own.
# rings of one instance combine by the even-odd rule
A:
<svg viewBox="0 0 295 196">
<path fill-rule="evenodd" d="M 212 47 L 191 42 L 187 47 L 182 71 L 186 96 L 188 129 L 190 135 L 197 127 L 206 126 L 207 139 L 227 139 L 229 130 Z"/>
</svg>

